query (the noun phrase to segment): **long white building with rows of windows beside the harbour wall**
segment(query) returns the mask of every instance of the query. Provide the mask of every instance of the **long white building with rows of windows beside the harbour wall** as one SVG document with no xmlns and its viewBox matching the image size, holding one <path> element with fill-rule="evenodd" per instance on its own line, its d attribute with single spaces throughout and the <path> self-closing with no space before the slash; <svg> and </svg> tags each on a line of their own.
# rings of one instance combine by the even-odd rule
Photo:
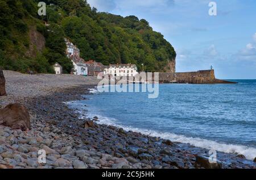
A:
<svg viewBox="0 0 256 180">
<path fill-rule="evenodd" d="M 134 64 L 115 64 L 109 65 L 104 69 L 104 75 L 108 74 L 113 77 L 130 76 L 135 77 L 138 73 L 137 66 Z"/>
</svg>

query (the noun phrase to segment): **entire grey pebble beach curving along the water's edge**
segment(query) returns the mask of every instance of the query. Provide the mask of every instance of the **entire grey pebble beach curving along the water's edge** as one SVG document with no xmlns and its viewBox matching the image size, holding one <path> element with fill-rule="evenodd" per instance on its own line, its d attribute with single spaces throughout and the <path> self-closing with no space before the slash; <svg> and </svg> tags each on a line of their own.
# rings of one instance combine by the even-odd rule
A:
<svg viewBox="0 0 256 180">
<path fill-rule="evenodd" d="M 255 169 L 242 154 L 218 152 L 209 164 L 209 150 L 188 144 L 97 124 L 83 119 L 66 102 L 85 99 L 97 86 L 95 77 L 20 74 L 4 71 L 7 96 L 0 107 L 22 103 L 30 113 L 31 129 L 22 132 L 0 125 L 0 169 Z M 38 152 L 46 152 L 39 163 Z"/>
</svg>

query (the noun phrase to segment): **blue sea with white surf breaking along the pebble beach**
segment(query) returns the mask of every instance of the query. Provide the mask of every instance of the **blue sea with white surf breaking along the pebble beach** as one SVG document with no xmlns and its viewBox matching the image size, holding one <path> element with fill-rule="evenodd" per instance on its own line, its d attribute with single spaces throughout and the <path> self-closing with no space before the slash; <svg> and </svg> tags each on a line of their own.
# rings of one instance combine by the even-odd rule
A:
<svg viewBox="0 0 256 180">
<path fill-rule="evenodd" d="M 148 93 L 99 93 L 96 88 L 85 95 L 88 100 L 71 102 L 69 107 L 90 118 L 97 116 L 101 124 L 253 160 L 256 80 L 230 81 L 238 83 L 160 84 L 155 99 Z"/>
</svg>

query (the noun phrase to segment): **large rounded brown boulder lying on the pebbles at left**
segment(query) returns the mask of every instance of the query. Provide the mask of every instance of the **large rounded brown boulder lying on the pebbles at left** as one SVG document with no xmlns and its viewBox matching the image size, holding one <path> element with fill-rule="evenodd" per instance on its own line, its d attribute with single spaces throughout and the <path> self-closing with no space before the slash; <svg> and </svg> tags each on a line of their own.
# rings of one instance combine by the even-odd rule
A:
<svg viewBox="0 0 256 180">
<path fill-rule="evenodd" d="M 27 108 L 22 104 L 9 104 L 0 109 L 0 124 L 7 125 L 12 129 L 30 129 L 30 115 Z"/>
</svg>

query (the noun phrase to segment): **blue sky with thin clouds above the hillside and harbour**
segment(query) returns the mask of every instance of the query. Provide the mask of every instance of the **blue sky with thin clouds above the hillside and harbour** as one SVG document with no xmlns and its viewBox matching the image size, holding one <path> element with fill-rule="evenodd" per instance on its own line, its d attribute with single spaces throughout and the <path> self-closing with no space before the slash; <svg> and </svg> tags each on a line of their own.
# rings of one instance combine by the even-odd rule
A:
<svg viewBox="0 0 256 180">
<path fill-rule="evenodd" d="M 256 1 L 88 0 L 98 11 L 146 19 L 177 52 L 176 72 L 210 69 L 217 78 L 256 79 Z"/>
</svg>

